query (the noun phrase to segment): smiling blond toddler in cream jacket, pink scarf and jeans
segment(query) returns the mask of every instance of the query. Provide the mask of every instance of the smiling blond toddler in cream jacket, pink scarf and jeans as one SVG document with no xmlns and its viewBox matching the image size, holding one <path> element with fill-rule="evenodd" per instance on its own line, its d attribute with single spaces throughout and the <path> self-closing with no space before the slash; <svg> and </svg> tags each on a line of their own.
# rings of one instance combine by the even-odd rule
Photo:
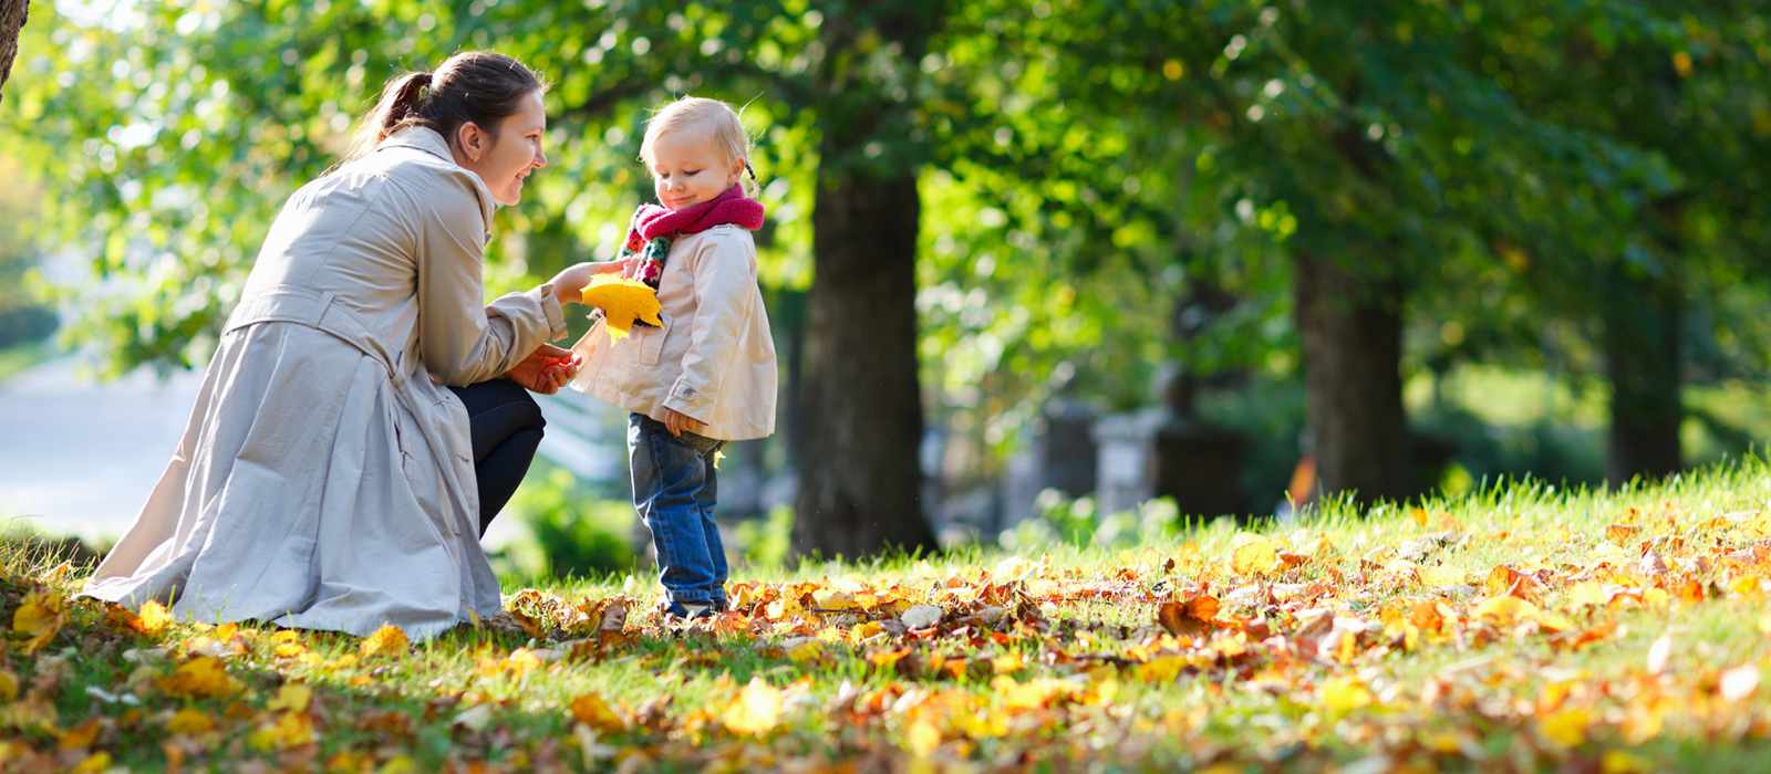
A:
<svg viewBox="0 0 1771 774">
<path fill-rule="evenodd" d="M 756 244 L 763 205 L 746 196 L 749 134 L 724 102 L 682 97 L 646 122 L 639 157 L 659 205 L 643 205 L 622 258 L 643 262 L 662 325 L 613 341 L 599 322 L 572 352 L 572 387 L 632 412 L 634 509 L 657 550 L 664 613 L 726 610 L 726 550 L 714 523 L 714 454 L 774 433 L 776 352 Z M 754 184 L 756 175 L 749 175 Z"/>
</svg>

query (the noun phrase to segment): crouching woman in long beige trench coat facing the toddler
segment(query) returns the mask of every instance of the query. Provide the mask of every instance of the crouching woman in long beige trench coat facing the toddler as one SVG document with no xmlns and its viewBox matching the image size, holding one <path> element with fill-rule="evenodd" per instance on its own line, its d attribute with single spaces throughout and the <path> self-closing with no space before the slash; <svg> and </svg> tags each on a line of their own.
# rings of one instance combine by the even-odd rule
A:
<svg viewBox="0 0 1771 774">
<path fill-rule="evenodd" d="M 542 92 L 485 51 L 388 83 L 352 161 L 278 214 L 177 454 L 85 594 L 358 636 L 499 610 L 478 535 L 540 442 L 510 380 L 576 375 L 545 341 L 616 269 L 480 306 L 494 201 L 547 163 Z"/>
</svg>

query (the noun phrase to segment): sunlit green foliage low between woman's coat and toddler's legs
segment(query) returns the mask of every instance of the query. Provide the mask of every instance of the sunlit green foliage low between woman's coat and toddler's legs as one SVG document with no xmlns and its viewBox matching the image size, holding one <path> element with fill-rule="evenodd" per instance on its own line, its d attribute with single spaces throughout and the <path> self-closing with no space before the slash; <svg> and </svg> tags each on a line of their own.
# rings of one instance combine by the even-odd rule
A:
<svg viewBox="0 0 1771 774">
<path fill-rule="evenodd" d="M 512 553 L 538 555 L 521 567 L 530 578 L 600 578 L 634 569 L 632 504 L 599 497 L 565 468 L 531 472 L 499 518 L 528 528 L 530 543 Z"/>
</svg>

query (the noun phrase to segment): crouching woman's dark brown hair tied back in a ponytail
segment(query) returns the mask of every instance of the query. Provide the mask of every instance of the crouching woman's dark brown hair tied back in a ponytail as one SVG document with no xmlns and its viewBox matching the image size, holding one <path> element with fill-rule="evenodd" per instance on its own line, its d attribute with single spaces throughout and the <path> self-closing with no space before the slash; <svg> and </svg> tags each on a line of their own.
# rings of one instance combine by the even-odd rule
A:
<svg viewBox="0 0 1771 774">
<path fill-rule="evenodd" d="M 473 122 L 498 140 L 498 125 L 517 113 L 530 92 L 545 92 L 535 71 L 492 51 L 462 51 L 436 72 L 407 72 L 381 90 L 381 99 L 363 117 L 347 159 L 367 156 L 388 134 L 409 125 L 436 129 L 450 143 L 455 129 Z"/>
</svg>

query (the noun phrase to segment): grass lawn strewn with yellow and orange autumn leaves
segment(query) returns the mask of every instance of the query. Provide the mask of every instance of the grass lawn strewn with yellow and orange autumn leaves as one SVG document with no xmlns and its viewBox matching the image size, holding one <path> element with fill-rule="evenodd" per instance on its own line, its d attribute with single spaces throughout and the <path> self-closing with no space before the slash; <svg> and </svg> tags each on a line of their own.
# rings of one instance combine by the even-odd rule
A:
<svg viewBox="0 0 1771 774">
<path fill-rule="evenodd" d="M 4 557 L 4 770 L 1766 770 L 1771 465 L 1139 548 L 515 590 L 407 643 Z M 625 615 L 623 615 L 625 613 Z"/>
</svg>

